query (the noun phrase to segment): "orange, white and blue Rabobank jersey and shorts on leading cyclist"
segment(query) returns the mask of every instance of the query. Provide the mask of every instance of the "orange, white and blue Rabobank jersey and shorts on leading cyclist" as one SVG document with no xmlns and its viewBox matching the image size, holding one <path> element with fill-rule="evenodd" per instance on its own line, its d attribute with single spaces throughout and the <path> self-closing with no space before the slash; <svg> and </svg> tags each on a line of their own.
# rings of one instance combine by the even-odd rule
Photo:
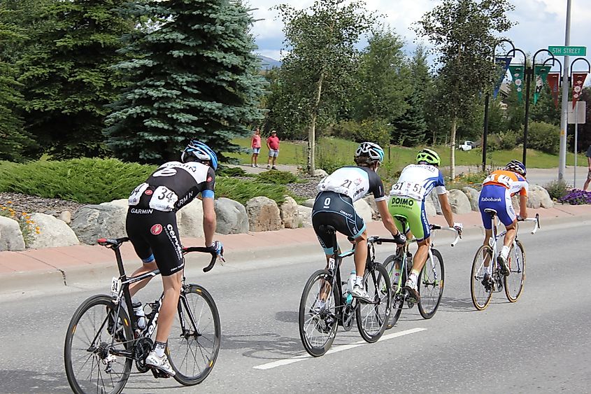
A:
<svg viewBox="0 0 591 394">
<path fill-rule="evenodd" d="M 511 225 L 516 218 L 511 196 L 518 193 L 527 196 L 527 190 L 528 183 L 520 174 L 506 170 L 492 171 L 485 178 L 478 198 L 478 209 L 484 228 L 492 229 L 492 217 L 485 209 L 494 209 L 501 223 L 505 226 Z"/>
</svg>

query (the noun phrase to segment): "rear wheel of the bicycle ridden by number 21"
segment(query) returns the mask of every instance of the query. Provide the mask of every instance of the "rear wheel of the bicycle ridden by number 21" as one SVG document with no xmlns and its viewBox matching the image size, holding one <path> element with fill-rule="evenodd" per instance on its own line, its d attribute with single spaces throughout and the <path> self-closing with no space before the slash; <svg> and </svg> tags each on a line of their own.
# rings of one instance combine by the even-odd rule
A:
<svg viewBox="0 0 591 394">
<path fill-rule="evenodd" d="M 324 355 L 332 346 L 339 325 L 336 316 L 335 289 L 323 290 L 325 283 L 329 283 L 329 272 L 319 269 L 306 282 L 299 302 L 298 328 L 301 344 L 314 357 Z M 332 283 L 329 283 L 332 287 Z M 328 294 L 325 306 L 317 310 L 317 300 L 320 291 Z M 318 333 L 318 334 L 317 334 Z"/>
</svg>

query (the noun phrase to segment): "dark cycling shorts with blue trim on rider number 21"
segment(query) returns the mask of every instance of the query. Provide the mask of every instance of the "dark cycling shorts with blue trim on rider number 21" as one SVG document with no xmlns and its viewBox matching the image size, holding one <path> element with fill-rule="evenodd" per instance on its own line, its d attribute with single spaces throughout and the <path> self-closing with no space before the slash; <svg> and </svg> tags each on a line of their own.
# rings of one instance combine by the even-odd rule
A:
<svg viewBox="0 0 591 394">
<path fill-rule="evenodd" d="M 312 226 L 320 245 L 327 255 L 332 255 L 332 235 L 320 230 L 329 225 L 347 237 L 357 238 L 365 231 L 365 221 L 355 212 L 353 200 L 336 192 L 320 192 L 312 209 Z"/>
</svg>

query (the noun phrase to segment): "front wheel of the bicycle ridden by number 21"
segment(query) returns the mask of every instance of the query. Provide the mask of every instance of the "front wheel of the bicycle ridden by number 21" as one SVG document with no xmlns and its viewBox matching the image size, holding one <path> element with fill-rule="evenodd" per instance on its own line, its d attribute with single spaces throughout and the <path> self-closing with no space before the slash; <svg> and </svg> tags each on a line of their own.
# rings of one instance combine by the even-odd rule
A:
<svg viewBox="0 0 591 394">
<path fill-rule="evenodd" d="M 376 304 L 357 301 L 355 318 L 359 334 L 365 342 L 371 344 L 382 337 L 390 319 L 392 286 L 385 268 L 377 263 L 373 265 L 373 269 L 365 269 L 363 283 L 366 292 Z"/>
</svg>

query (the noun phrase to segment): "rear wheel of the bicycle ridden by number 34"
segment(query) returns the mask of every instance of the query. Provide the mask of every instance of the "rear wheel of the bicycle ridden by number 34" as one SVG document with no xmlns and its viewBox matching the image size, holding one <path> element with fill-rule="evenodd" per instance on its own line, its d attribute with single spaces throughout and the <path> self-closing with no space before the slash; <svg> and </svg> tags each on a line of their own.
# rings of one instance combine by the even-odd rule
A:
<svg viewBox="0 0 591 394">
<path fill-rule="evenodd" d="M 110 296 L 93 295 L 80 304 L 71 318 L 64 343 L 64 364 L 68 383 L 76 394 L 97 392 L 118 394 L 123 391 L 129 379 L 133 360 L 109 353 L 113 336 L 116 337 L 113 342 L 116 351 L 131 352 L 134 347 L 133 330 L 123 307 L 120 308 L 119 313 L 120 325 L 115 325 L 115 330 L 113 325 L 109 327 L 108 314 L 111 311 L 114 314 L 114 308 L 115 304 Z M 106 356 L 113 357 L 113 361 L 104 364 Z M 117 363 L 118 360 L 124 361 Z M 82 361 L 79 368 L 74 365 L 78 364 L 78 361 Z M 115 367 L 121 371 L 107 372 L 107 367 Z M 90 373 L 83 372 L 87 368 L 90 368 Z"/>
</svg>

